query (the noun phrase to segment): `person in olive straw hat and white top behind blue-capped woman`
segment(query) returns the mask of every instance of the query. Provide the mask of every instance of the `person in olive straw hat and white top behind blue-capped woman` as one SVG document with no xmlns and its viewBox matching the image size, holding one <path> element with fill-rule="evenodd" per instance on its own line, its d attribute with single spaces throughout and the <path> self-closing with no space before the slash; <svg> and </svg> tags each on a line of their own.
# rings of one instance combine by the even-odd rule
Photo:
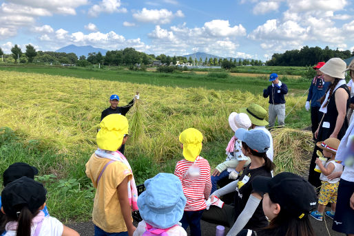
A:
<svg viewBox="0 0 354 236">
<path fill-rule="evenodd" d="M 266 125 L 268 125 L 267 111 L 258 104 L 251 104 L 249 107 L 244 107 L 240 109 L 240 112 L 243 112 L 249 116 L 249 119 L 252 122 L 251 129 L 261 129 L 264 133 L 267 133 L 269 140 L 271 141 L 270 147 L 267 150 L 267 157 L 273 162 L 273 137 L 271 132 L 268 131 Z"/>
</svg>

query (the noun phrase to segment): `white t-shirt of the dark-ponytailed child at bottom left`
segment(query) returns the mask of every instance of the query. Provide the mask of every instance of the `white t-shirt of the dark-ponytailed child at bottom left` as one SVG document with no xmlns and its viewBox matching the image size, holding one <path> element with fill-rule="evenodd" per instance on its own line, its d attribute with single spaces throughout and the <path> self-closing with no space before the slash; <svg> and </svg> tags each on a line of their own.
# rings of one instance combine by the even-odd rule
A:
<svg viewBox="0 0 354 236">
<path fill-rule="evenodd" d="M 32 226 L 31 235 L 34 235 L 34 231 L 36 230 L 37 224 Z M 63 235 L 64 226 L 58 219 L 54 217 L 44 217 L 41 231 L 39 232 L 39 236 L 61 236 Z M 5 236 L 15 236 L 16 230 L 8 230 Z"/>
</svg>

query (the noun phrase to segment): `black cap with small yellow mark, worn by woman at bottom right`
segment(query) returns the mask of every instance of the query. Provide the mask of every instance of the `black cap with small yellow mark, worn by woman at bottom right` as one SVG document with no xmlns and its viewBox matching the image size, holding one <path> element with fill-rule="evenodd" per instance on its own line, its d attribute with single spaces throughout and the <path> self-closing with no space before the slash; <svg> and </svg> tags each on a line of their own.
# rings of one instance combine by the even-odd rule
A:
<svg viewBox="0 0 354 236">
<path fill-rule="evenodd" d="M 299 219 L 309 215 L 316 206 L 315 189 L 294 173 L 282 172 L 273 178 L 256 176 L 252 186 L 255 191 L 268 193 L 272 202 L 280 204 L 280 211 L 285 210 Z"/>
</svg>

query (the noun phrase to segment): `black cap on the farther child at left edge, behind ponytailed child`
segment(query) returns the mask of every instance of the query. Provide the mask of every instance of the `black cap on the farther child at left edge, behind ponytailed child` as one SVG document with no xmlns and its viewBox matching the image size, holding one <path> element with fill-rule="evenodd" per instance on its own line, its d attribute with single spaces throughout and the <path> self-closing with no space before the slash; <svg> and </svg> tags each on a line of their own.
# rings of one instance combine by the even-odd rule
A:
<svg viewBox="0 0 354 236">
<path fill-rule="evenodd" d="M 32 167 L 24 162 L 16 162 L 6 171 L 3 172 L 3 186 L 6 186 L 8 183 L 17 180 L 23 176 L 27 176 L 28 178 L 34 179 L 34 175 L 38 174 L 38 169 L 36 167 Z"/>
</svg>

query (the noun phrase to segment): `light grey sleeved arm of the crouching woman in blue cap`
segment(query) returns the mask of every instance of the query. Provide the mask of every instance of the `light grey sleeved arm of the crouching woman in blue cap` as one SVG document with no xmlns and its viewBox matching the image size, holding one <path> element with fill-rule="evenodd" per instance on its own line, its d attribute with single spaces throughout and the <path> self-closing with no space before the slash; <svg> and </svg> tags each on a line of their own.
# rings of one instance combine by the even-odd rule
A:
<svg viewBox="0 0 354 236">
<path fill-rule="evenodd" d="M 227 236 L 235 236 L 240 233 L 242 228 L 244 228 L 247 222 L 249 222 L 249 219 L 251 219 L 261 200 L 262 196 L 258 193 L 252 193 L 249 196 L 246 206 L 244 206 L 243 211 L 237 217 L 235 224 L 233 224 L 232 228 L 229 230 L 229 233 L 227 233 Z"/>
</svg>

